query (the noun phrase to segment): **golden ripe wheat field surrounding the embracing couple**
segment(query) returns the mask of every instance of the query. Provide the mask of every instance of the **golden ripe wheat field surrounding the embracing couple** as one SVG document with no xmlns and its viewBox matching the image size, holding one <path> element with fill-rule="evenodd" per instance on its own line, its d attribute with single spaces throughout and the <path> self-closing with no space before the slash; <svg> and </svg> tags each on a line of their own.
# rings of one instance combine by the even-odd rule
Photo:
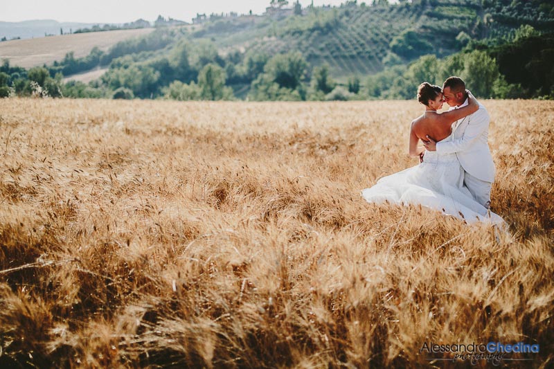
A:
<svg viewBox="0 0 554 369">
<path fill-rule="evenodd" d="M 508 233 L 361 199 L 415 101 L 0 100 L 0 366 L 552 367 L 554 102 L 483 103 Z"/>
</svg>

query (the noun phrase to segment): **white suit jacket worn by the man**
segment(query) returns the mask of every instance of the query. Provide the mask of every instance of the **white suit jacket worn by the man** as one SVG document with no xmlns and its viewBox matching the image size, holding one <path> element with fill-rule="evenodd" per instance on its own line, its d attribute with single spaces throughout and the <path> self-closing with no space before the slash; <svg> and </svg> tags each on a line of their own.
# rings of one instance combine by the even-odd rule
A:
<svg viewBox="0 0 554 369">
<path fill-rule="evenodd" d="M 494 162 L 488 144 L 490 116 L 479 103 L 479 110 L 452 124 L 452 141 L 437 143 L 436 151 L 455 152 L 462 168 L 481 181 L 494 181 Z M 467 99 L 460 106 L 467 105 Z M 451 107 L 449 110 L 457 109 Z"/>
</svg>

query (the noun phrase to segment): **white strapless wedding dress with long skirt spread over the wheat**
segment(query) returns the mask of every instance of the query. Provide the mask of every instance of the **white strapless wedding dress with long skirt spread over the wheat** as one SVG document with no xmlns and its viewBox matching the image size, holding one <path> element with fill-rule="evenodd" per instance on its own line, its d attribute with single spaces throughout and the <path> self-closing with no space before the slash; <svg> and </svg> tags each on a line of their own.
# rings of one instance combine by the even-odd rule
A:
<svg viewBox="0 0 554 369">
<path fill-rule="evenodd" d="M 489 217 L 488 209 L 475 201 L 463 186 L 463 168 L 454 153 L 426 151 L 422 163 L 379 179 L 375 186 L 361 191 L 361 195 L 366 201 L 377 204 L 385 201 L 421 204 L 445 215 L 465 219 L 468 223 L 503 223 L 497 214 L 490 212 Z"/>
</svg>

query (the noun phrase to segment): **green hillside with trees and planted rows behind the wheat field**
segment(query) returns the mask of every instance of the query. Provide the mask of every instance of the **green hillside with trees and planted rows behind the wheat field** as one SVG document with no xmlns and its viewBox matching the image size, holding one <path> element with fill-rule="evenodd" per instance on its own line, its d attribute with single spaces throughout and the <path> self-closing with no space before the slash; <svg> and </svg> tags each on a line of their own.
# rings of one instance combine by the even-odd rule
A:
<svg viewBox="0 0 554 369">
<path fill-rule="evenodd" d="M 111 46 L 105 48 L 91 46 L 115 33 L 87 33 L 89 42 L 73 45 L 65 42 L 66 36 L 44 38 L 44 45 L 46 39 L 59 40 L 57 56 L 48 48 L 27 51 L 17 44 L 15 49 L 51 63 L 46 71 L 33 75 L 48 73 L 57 81 L 51 81 L 48 91 L 74 97 L 411 98 L 421 81 L 439 81 L 454 72 L 482 84 L 481 96 L 554 95 L 547 73 L 548 55 L 554 51 L 546 36 L 554 29 L 552 1 L 379 0 L 372 5 L 346 1 L 339 7 L 275 6 L 262 16 L 231 12 L 199 16 L 193 25 L 173 26 L 171 19 L 157 25 L 154 32 L 136 39 L 111 39 Z M 517 48 L 510 53 L 493 49 L 516 42 Z M 537 49 L 541 42 L 546 42 L 548 50 Z M 15 54 L 2 50 L 8 44 L 0 43 L 0 57 L 23 65 Z M 89 55 L 78 52 L 83 45 L 89 47 Z M 464 56 L 468 53 L 472 53 L 470 59 Z M 497 59 L 496 55 L 511 56 Z M 514 77 L 510 64 L 514 57 L 530 63 L 520 69 L 535 73 L 536 83 L 526 84 L 526 75 Z M 8 64 L 3 71 L 14 93 L 29 93 L 24 71 L 10 69 Z M 98 80 L 78 82 L 88 82 L 102 73 L 98 71 L 105 71 Z M 62 86 L 61 81 L 71 75 L 77 82 Z"/>
</svg>

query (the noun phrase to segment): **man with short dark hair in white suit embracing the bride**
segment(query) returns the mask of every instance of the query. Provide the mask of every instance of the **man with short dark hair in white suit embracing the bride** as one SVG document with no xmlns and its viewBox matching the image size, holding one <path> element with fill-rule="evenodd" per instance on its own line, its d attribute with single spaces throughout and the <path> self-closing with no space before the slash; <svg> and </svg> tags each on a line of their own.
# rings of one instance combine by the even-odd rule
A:
<svg viewBox="0 0 554 369">
<path fill-rule="evenodd" d="M 449 77 L 445 81 L 443 95 L 450 110 L 467 105 L 465 82 L 459 77 Z M 429 141 L 423 142 L 428 151 L 456 153 L 464 170 L 464 185 L 485 208 L 490 207 L 490 188 L 495 170 L 488 145 L 489 123 L 487 109 L 479 103 L 479 110 L 474 114 L 452 124 L 452 141 L 436 143 L 427 136 Z"/>
</svg>

